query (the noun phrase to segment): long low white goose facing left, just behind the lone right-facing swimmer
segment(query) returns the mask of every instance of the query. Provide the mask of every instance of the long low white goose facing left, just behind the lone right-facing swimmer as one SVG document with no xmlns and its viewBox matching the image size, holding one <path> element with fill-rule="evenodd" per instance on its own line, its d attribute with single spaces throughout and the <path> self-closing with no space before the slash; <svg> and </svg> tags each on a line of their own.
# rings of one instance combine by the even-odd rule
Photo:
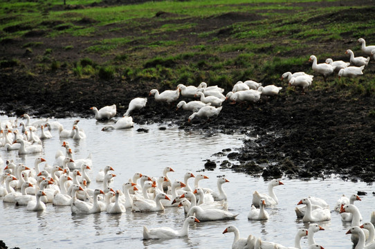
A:
<svg viewBox="0 0 375 249">
<path fill-rule="evenodd" d="M 238 216 L 238 214 L 233 214 L 232 212 L 217 208 L 203 210 L 203 208 L 199 207 L 198 205 L 190 208 L 189 212 L 187 212 L 187 216 L 194 216 L 194 214 L 196 219 L 199 219 L 199 221 L 221 221 L 236 219 Z"/>
</svg>

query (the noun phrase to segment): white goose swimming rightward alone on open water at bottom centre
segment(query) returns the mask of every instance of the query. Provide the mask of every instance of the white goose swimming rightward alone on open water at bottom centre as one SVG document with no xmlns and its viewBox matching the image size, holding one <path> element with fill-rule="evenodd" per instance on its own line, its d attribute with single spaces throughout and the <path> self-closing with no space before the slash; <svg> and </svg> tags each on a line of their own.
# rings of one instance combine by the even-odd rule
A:
<svg viewBox="0 0 375 249">
<path fill-rule="evenodd" d="M 176 237 L 185 237 L 189 232 L 189 226 L 195 222 L 200 223 L 199 219 L 196 219 L 195 216 L 188 216 L 183 222 L 183 227 L 180 230 L 167 227 L 148 229 L 146 226 L 143 226 L 143 239 L 172 239 Z"/>
</svg>

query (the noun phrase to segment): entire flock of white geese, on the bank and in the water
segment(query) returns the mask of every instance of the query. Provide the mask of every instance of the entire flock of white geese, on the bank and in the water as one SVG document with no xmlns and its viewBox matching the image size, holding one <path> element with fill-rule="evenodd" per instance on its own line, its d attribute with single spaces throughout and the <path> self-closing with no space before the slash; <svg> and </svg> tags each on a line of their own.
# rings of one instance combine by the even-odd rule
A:
<svg viewBox="0 0 375 249">
<path fill-rule="evenodd" d="M 375 55 L 375 46 L 365 46 L 364 39 L 358 39 L 362 43 L 362 49 L 365 53 Z M 351 50 L 347 50 L 351 55 L 349 62 L 333 62 L 327 59 L 327 63 L 317 64 L 317 59 L 311 55 L 313 61 L 313 71 L 320 73 L 323 77 L 336 71 L 339 76 L 348 77 L 349 75 L 360 75 L 363 67 L 369 62 L 367 59 L 358 59 L 354 57 Z M 365 63 L 365 64 L 360 64 Z M 357 66 L 349 66 L 354 64 Z M 354 74 L 354 71 L 360 73 Z M 329 73 L 330 72 L 330 73 Z M 301 86 L 306 89 L 313 81 L 313 75 L 307 75 L 303 72 L 287 72 L 282 75 L 289 81 L 289 84 Z M 232 91 L 223 95 L 223 89 L 218 86 L 207 86 L 202 82 L 198 87 L 184 86 L 180 84 L 176 90 L 168 90 L 158 93 L 158 90 L 152 89 L 149 94 L 154 95 L 156 101 L 172 104 L 179 99 L 179 95 L 185 98 L 199 98 L 191 102 L 181 101 L 177 104 L 177 109 L 182 108 L 192 111 L 189 121 L 196 116 L 211 118 L 217 116 L 221 111 L 221 104 L 225 100 L 232 102 L 257 102 L 261 95 L 277 95 L 282 87 L 268 85 L 262 86 L 262 83 L 247 80 L 237 82 Z M 127 112 L 117 120 L 114 125 L 103 127 L 103 131 L 109 129 L 125 129 L 133 126 L 130 115 L 131 111 L 145 107 L 147 98 L 135 98 L 129 103 Z M 112 106 L 97 109 L 91 107 L 95 114 L 95 119 L 105 120 L 116 116 L 116 104 Z M 1 122 L 0 146 L 6 150 L 18 150 L 18 154 L 35 154 L 42 152 L 42 140 L 52 137 L 51 131 L 56 130 L 60 138 L 73 138 L 80 140 L 86 138 L 86 133 L 78 126 L 79 120 L 72 124 L 71 129 L 64 129 L 59 122 L 50 122 L 47 119 L 31 120 L 27 114 L 23 115 L 25 122 L 18 120 L 8 120 Z M 19 130 L 21 127 L 21 130 Z M 40 134 L 38 134 L 38 129 Z M 53 205 L 69 205 L 73 214 L 92 214 L 96 212 L 108 212 L 110 214 L 125 212 L 127 208 L 134 212 L 156 212 L 164 210 L 165 207 L 178 208 L 183 206 L 187 218 L 182 224 L 181 230 L 172 228 L 147 228 L 143 229 L 144 239 L 166 239 L 174 237 L 184 237 L 188 234 L 189 225 L 194 222 L 217 221 L 226 219 L 236 219 L 238 214 L 228 211 L 226 193 L 223 190 L 223 183 L 228 180 L 225 177 L 219 177 L 217 180 L 217 191 L 205 189 L 199 186 L 199 181 L 207 178 L 203 174 L 194 176 L 191 172 L 185 174 L 183 181 L 171 182 L 168 178 L 168 172 L 174 171 L 170 167 L 165 167 L 163 176 L 151 178 L 144 174 L 136 173 L 129 182 L 122 185 L 122 190 L 112 190 L 111 182 L 116 175 L 112 173 L 110 166 L 95 176 L 95 181 L 102 182 L 102 190 L 92 190 L 86 187 L 91 182 L 86 170 L 91 169 L 91 155 L 87 158 L 75 160 L 73 152 L 68 144 L 64 142 L 62 147 L 65 153 L 57 151 L 53 165 L 44 165 L 44 169 L 39 169 L 39 164 L 44 162 L 44 158 L 37 157 L 33 169 L 26 167 L 22 163 L 15 164 L 7 160 L 4 162 L 0 158 L 0 196 L 3 202 L 16 203 L 16 205 L 26 205 L 30 211 L 41 211 L 46 209 L 46 203 Z M 194 178 L 194 188 L 187 183 L 189 178 Z M 264 220 L 268 219 L 269 214 L 264 209 L 267 206 L 275 206 L 278 203 L 277 196 L 273 187 L 283 185 L 281 181 L 273 180 L 268 185 L 268 193 L 262 194 L 257 191 L 253 193 L 253 206 L 249 210 L 248 219 Z M 356 245 L 356 249 L 374 249 L 375 248 L 375 212 L 372 212 L 371 221 L 363 224 L 360 211 L 354 205 L 354 201 L 360 201 L 356 194 L 347 198 L 342 196 L 334 208 L 335 211 L 342 214 L 342 221 L 351 222 L 351 228 L 347 233 L 352 234 L 351 240 Z M 302 205 L 302 206 L 300 206 Z M 309 248 L 322 248 L 315 244 L 313 234 L 324 228 L 315 224 L 319 221 L 328 221 L 331 219 L 331 210 L 327 203 L 318 198 L 304 198 L 295 208 L 298 217 L 303 217 L 304 222 L 311 223 L 309 230 L 298 230 L 295 235 L 295 246 L 285 247 L 278 243 L 262 241 L 253 235 L 247 238 L 239 237 L 239 230 L 235 226 L 229 226 L 223 233 L 234 232 L 235 238 L 232 248 L 301 248 L 300 240 L 302 237 L 309 238 Z"/>
</svg>

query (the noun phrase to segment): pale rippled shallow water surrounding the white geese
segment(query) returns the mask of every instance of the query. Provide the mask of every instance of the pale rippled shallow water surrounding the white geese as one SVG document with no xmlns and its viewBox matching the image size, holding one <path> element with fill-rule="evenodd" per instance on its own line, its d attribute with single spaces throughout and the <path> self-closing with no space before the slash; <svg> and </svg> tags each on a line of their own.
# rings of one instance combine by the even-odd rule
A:
<svg viewBox="0 0 375 249">
<path fill-rule="evenodd" d="M 4 117 L 2 118 L 4 119 Z M 65 128 L 71 127 L 73 118 L 58 120 Z M 90 188 L 101 187 L 95 183 L 95 175 L 105 165 L 115 169 L 114 182 L 111 187 L 121 189 L 122 183 L 128 181 L 135 172 L 149 176 L 161 176 L 164 167 L 170 166 L 172 180 L 183 180 L 183 174 L 191 171 L 196 174 L 203 169 L 205 159 L 215 160 L 218 165 L 221 158 L 212 154 L 222 149 L 235 150 L 242 146 L 244 135 L 232 136 L 217 134 L 207 136 L 202 131 L 182 131 L 168 124 L 135 125 L 126 130 L 100 131 L 105 123 L 93 119 L 81 119 L 79 126 L 86 132 L 87 138 L 80 141 L 66 139 L 73 147 L 75 158 L 85 158 L 89 153 L 93 156 L 93 167 L 90 172 L 93 180 Z M 166 129 L 159 129 L 165 127 Z M 148 133 L 137 132 L 136 129 L 148 129 Z M 62 141 L 57 131 L 53 138 L 44 141 L 43 156 L 47 163 L 53 164 L 55 152 L 61 147 Z M 256 136 L 256 134 L 251 134 Z M 249 139 L 249 137 L 246 137 Z M 17 156 L 16 151 L 0 151 L 3 160 L 12 159 L 16 163 L 24 163 L 33 167 L 37 155 Z M 42 168 L 43 163 L 41 164 Z M 28 212 L 25 207 L 0 201 L 0 239 L 8 248 L 102 248 L 103 246 L 122 248 L 231 248 L 233 234 L 222 234 L 228 225 L 236 225 L 241 237 L 253 234 L 266 241 L 293 246 L 295 232 L 308 224 L 296 219 L 295 205 L 305 196 L 317 196 L 325 199 L 331 209 L 342 195 L 365 191 L 357 201 L 365 221 L 369 220 L 370 212 L 375 211 L 375 197 L 371 194 L 374 187 L 365 183 L 351 183 L 339 178 L 329 177 L 324 181 L 282 179 L 284 185 L 275 187 L 279 204 L 275 208 L 267 208 L 270 214 L 268 221 L 248 221 L 252 193 L 255 190 L 267 191 L 267 182 L 263 178 L 254 178 L 219 168 L 204 172 L 209 179 L 200 182 L 203 187 L 216 190 L 216 177 L 226 175 L 230 183 L 223 185 L 228 194 L 228 205 L 231 212 L 238 213 L 234 221 L 212 221 L 196 223 L 190 226 L 189 237 L 182 239 L 143 241 L 143 225 L 148 228 L 167 226 L 181 227 L 185 219 L 183 210 L 166 208 L 164 212 L 135 213 L 127 210 L 124 214 L 84 214 L 72 215 L 70 207 L 47 205 L 44 212 Z M 189 184 L 193 185 L 192 179 Z M 345 232 L 349 223 L 342 223 L 340 215 L 331 213 L 331 221 L 322 222 L 325 230 L 315 234 L 315 241 L 324 248 L 351 248 L 350 236 Z M 302 248 L 307 248 L 307 239 L 302 239 Z"/>
</svg>

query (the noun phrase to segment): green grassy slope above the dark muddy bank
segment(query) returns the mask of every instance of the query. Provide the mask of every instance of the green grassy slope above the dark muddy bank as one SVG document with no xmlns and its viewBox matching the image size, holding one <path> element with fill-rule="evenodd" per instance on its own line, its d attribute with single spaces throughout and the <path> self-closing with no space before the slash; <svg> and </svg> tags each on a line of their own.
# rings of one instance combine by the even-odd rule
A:
<svg viewBox="0 0 375 249">
<path fill-rule="evenodd" d="M 116 4 L 115 4 L 116 3 Z M 161 88 L 238 80 L 282 84 L 345 50 L 375 44 L 367 1 L 2 1 L 1 68 L 28 77 L 152 82 Z M 373 94 L 374 59 L 356 79 L 316 75 L 313 89 Z M 286 85 L 285 85 L 286 86 Z M 293 89 L 289 89 L 293 91 Z"/>
</svg>

